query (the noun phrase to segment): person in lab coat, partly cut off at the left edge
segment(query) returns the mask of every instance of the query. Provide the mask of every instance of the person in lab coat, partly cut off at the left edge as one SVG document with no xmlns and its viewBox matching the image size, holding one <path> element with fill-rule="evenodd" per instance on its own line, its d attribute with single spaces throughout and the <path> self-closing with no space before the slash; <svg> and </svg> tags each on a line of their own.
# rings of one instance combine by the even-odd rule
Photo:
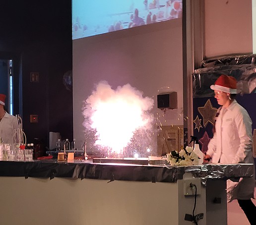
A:
<svg viewBox="0 0 256 225">
<path fill-rule="evenodd" d="M 15 116 L 5 111 L 5 98 L 5 95 L 0 94 L 0 138 L 5 144 L 11 144 L 14 129 L 18 128 L 18 123 Z"/>
</svg>

